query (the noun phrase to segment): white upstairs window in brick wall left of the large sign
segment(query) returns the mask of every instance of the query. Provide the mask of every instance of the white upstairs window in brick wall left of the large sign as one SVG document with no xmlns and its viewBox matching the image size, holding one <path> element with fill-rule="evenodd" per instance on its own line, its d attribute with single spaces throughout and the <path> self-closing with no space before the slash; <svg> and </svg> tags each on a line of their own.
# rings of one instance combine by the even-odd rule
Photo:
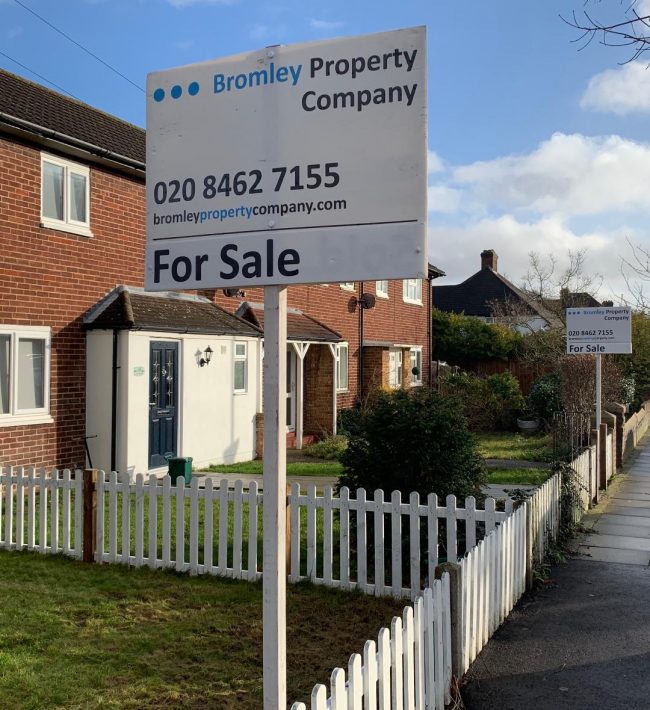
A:
<svg viewBox="0 0 650 710">
<path fill-rule="evenodd" d="M 41 155 L 41 226 L 92 237 L 87 165 Z"/>
</svg>

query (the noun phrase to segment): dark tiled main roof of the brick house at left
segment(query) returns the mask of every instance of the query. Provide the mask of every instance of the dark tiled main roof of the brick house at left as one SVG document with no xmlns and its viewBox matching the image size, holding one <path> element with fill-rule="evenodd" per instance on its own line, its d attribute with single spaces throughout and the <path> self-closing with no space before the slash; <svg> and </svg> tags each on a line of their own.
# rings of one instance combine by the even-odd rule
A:
<svg viewBox="0 0 650 710">
<path fill-rule="evenodd" d="M 0 69 L 2 126 L 144 170 L 144 129 Z"/>
</svg>

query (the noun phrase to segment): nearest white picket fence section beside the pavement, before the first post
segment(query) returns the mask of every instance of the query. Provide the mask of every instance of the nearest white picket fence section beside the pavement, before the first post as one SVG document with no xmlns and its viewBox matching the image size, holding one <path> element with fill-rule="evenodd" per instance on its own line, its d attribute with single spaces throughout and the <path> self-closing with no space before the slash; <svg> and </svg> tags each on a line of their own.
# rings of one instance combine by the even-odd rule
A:
<svg viewBox="0 0 650 710">
<path fill-rule="evenodd" d="M 449 575 L 435 580 L 413 606 L 350 657 L 347 674 L 335 668 L 316 685 L 311 710 L 444 710 L 450 701 L 451 620 Z M 294 703 L 291 710 L 306 710 Z"/>
</svg>

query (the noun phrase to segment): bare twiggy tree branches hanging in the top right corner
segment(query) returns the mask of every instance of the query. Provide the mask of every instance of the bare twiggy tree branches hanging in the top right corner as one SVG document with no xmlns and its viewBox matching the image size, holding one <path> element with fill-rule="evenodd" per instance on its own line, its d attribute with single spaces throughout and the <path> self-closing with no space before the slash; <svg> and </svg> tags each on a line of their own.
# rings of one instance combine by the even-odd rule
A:
<svg viewBox="0 0 650 710">
<path fill-rule="evenodd" d="M 580 12 L 573 12 L 570 17 L 560 15 L 562 20 L 569 26 L 580 32 L 576 42 L 581 43 L 580 49 L 584 49 L 594 40 L 600 41 L 606 47 L 627 47 L 630 56 L 625 64 L 643 57 L 650 49 L 650 15 L 647 13 L 647 5 L 641 0 L 631 0 L 631 2 L 621 2 L 616 11 L 617 16 L 608 13 L 608 5 L 598 0 L 591 2 L 587 0 L 585 6 L 599 5 L 599 8 L 583 9 Z M 621 15 L 621 9 L 623 14 Z"/>
</svg>

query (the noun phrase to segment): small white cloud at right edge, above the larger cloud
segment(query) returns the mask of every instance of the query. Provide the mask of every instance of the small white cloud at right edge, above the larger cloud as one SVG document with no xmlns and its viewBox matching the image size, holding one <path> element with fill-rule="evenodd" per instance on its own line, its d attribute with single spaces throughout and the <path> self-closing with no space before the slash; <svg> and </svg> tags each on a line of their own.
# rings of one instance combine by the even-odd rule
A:
<svg viewBox="0 0 650 710">
<path fill-rule="evenodd" d="M 591 77 L 580 99 L 580 106 L 619 116 L 650 113 L 650 69 L 647 62 L 630 62 Z"/>
</svg>

